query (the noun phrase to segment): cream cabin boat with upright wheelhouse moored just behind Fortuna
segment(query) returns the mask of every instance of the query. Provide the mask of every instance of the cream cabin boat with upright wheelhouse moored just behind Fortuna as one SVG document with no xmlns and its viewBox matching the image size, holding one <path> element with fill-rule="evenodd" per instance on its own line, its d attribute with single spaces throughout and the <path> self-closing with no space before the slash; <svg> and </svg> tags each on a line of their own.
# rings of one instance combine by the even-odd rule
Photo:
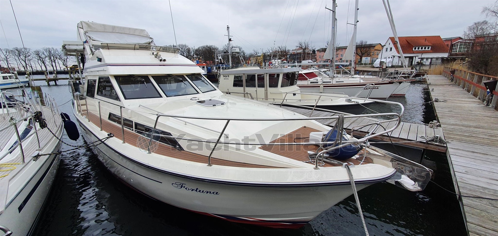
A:
<svg viewBox="0 0 498 236">
<path fill-rule="evenodd" d="M 264 103 L 291 107 L 321 108 L 348 114 L 362 114 L 373 101 L 351 98 L 343 93 L 334 96 L 306 94 L 297 87 L 299 67 L 260 69 L 239 67 L 221 72 L 222 92 Z M 353 97 L 353 96 L 352 96 Z"/>
</svg>

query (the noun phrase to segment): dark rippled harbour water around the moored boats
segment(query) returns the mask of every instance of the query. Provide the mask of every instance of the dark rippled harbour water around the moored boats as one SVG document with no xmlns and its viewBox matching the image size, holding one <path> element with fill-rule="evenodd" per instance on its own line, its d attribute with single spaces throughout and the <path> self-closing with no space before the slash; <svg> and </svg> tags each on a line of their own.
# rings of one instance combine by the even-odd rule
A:
<svg viewBox="0 0 498 236">
<path fill-rule="evenodd" d="M 66 81 L 46 86 L 37 81 L 43 92 L 51 94 L 60 110 L 73 118 Z M 406 106 L 404 120 L 428 123 L 434 112 L 427 102 L 427 86 L 412 84 L 406 97 L 391 98 Z M 373 105 L 374 111 L 386 112 L 389 107 Z M 80 138 L 64 141 L 81 145 Z M 73 151 L 62 146 L 61 163 L 51 194 L 41 214 L 36 236 L 96 235 L 365 235 L 355 200 L 351 196 L 298 230 L 271 229 L 231 223 L 199 215 L 145 197 L 117 180 L 88 148 Z M 425 159 L 437 163 L 433 179 L 453 191 L 446 155 L 426 151 Z M 460 205 L 451 194 L 433 183 L 421 192 L 409 192 L 388 183 L 374 184 L 359 192 L 370 235 L 440 236 L 467 235 Z M 319 201 L 319 199 L 303 199 Z M 289 206 L 292 207 L 292 206 Z"/>
</svg>

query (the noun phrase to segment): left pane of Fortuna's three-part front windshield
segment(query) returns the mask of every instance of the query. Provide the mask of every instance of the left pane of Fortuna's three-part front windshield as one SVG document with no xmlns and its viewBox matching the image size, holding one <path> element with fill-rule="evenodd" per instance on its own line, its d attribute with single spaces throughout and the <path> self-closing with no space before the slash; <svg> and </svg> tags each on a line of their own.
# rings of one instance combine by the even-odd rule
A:
<svg viewBox="0 0 498 236">
<path fill-rule="evenodd" d="M 124 99 L 160 98 L 159 92 L 146 75 L 114 76 L 123 92 Z"/>
</svg>

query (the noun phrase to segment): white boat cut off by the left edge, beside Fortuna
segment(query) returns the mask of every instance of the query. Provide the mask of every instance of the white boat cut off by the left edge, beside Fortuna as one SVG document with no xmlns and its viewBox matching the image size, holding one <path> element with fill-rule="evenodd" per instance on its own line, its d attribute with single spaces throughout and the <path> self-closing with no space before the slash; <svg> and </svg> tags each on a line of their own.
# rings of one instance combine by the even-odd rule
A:
<svg viewBox="0 0 498 236">
<path fill-rule="evenodd" d="M 0 104 L 0 233 L 30 235 L 55 178 L 64 126 L 47 94 L 7 90 Z"/>
</svg>

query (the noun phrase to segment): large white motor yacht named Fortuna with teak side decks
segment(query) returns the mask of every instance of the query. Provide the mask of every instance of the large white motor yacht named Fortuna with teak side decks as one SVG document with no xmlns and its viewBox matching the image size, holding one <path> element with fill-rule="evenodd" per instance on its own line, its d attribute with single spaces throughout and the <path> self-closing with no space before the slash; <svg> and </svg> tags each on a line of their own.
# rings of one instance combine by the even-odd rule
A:
<svg viewBox="0 0 498 236">
<path fill-rule="evenodd" d="M 86 82 L 73 90 L 83 135 L 114 134 L 92 149 L 117 178 L 154 199 L 228 221 L 298 228 L 356 194 L 351 183 L 360 190 L 395 178 L 421 190 L 430 179 L 424 166 L 366 143 L 379 133 L 356 139 L 341 129 L 344 117 L 381 115 L 325 117 L 339 122 L 331 129 L 316 121 L 324 117 L 222 93 L 146 30 L 88 21 L 77 29 L 77 41 L 62 48 L 87 58 Z M 400 122 L 399 114 L 384 115 Z"/>
</svg>

